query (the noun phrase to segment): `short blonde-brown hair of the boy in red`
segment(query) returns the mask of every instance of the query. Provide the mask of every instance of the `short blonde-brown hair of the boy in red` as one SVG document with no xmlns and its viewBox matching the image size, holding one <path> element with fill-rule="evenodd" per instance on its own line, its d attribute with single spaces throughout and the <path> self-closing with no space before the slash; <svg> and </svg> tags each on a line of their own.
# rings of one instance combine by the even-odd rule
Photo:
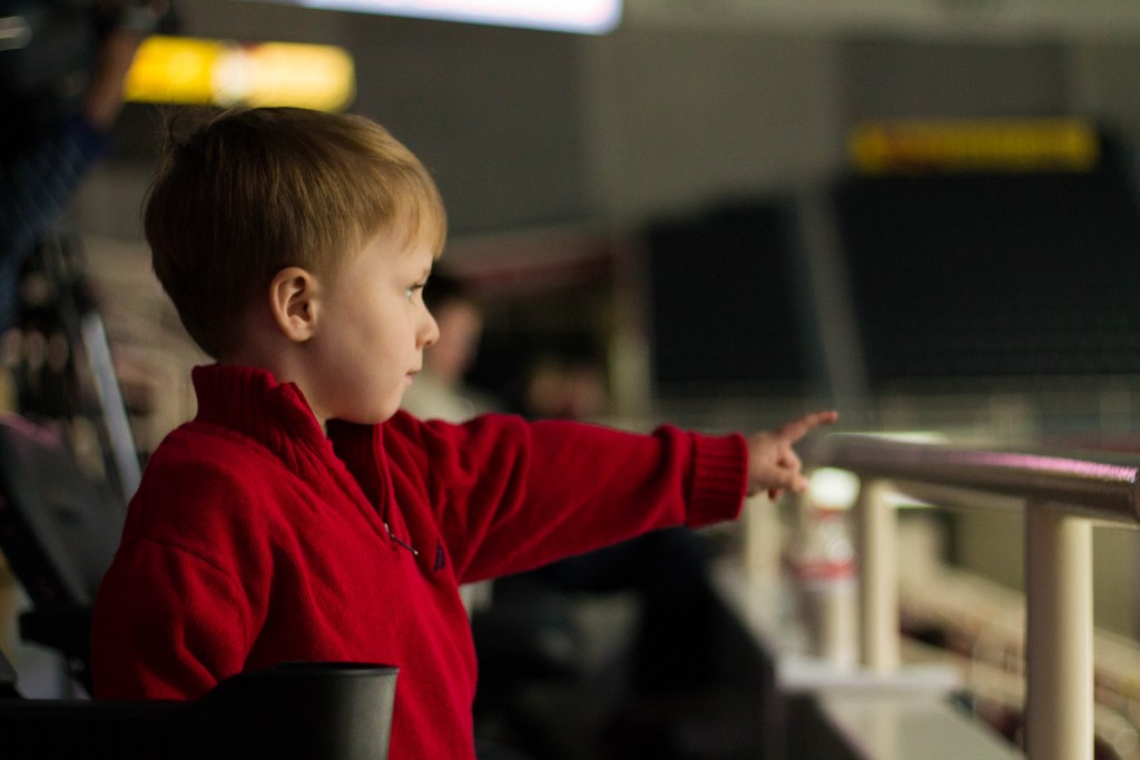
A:
<svg viewBox="0 0 1140 760">
<path fill-rule="evenodd" d="M 187 332 L 219 358 L 272 277 L 335 277 L 374 235 L 442 251 L 447 218 L 423 164 L 360 116 L 299 108 L 223 112 L 171 139 L 144 228 Z"/>
</svg>

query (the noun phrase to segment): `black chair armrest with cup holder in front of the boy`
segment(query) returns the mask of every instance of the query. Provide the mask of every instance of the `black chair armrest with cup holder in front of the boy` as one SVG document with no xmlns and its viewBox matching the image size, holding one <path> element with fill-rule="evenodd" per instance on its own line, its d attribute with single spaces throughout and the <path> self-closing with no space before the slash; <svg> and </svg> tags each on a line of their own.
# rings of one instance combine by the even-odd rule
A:
<svg viewBox="0 0 1140 760">
<path fill-rule="evenodd" d="M 241 673 L 193 702 L 0 698 L 0 755 L 384 760 L 397 672 L 295 662 Z"/>
</svg>

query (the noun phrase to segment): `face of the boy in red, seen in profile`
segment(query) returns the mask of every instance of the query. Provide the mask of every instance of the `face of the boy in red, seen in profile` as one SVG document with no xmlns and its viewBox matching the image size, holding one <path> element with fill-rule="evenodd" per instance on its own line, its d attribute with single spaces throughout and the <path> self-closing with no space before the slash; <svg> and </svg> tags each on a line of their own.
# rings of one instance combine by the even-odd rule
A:
<svg viewBox="0 0 1140 760">
<path fill-rule="evenodd" d="M 384 422 L 400 407 L 423 350 L 439 337 L 423 302 L 434 256 L 406 236 L 382 232 L 344 268 L 320 302 L 310 387 L 323 419 Z"/>
</svg>

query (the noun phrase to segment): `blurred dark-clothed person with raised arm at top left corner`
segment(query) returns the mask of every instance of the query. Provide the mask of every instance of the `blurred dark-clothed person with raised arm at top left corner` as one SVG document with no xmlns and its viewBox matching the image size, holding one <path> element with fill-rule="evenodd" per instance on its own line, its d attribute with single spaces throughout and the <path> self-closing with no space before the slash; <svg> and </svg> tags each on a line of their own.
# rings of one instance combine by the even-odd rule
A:
<svg viewBox="0 0 1140 760">
<path fill-rule="evenodd" d="M 107 153 L 135 54 L 165 11 L 162 0 L 0 3 L 18 30 L 0 49 L 0 328 L 15 319 L 24 263 Z"/>
</svg>

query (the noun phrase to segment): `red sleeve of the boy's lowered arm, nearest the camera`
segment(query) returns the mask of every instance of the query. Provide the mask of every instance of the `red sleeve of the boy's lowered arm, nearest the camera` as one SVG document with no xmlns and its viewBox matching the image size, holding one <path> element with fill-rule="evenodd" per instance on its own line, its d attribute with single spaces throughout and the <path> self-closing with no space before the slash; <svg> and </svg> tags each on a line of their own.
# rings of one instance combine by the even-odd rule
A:
<svg viewBox="0 0 1140 760">
<path fill-rule="evenodd" d="M 197 698 L 244 668 L 266 614 L 271 559 L 250 491 L 156 458 L 95 604 L 98 698 Z"/>
</svg>

